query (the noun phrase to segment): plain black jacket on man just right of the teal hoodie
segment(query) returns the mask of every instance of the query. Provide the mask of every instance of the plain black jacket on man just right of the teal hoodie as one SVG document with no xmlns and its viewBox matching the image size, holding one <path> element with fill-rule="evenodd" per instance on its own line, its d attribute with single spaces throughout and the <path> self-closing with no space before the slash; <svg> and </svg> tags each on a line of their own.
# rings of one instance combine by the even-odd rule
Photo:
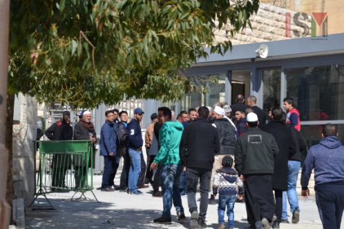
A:
<svg viewBox="0 0 344 229">
<path fill-rule="evenodd" d="M 214 155 L 220 151 L 218 130 L 208 119 L 196 119 L 184 128 L 180 159 L 187 168 L 211 170 Z"/>
</svg>

